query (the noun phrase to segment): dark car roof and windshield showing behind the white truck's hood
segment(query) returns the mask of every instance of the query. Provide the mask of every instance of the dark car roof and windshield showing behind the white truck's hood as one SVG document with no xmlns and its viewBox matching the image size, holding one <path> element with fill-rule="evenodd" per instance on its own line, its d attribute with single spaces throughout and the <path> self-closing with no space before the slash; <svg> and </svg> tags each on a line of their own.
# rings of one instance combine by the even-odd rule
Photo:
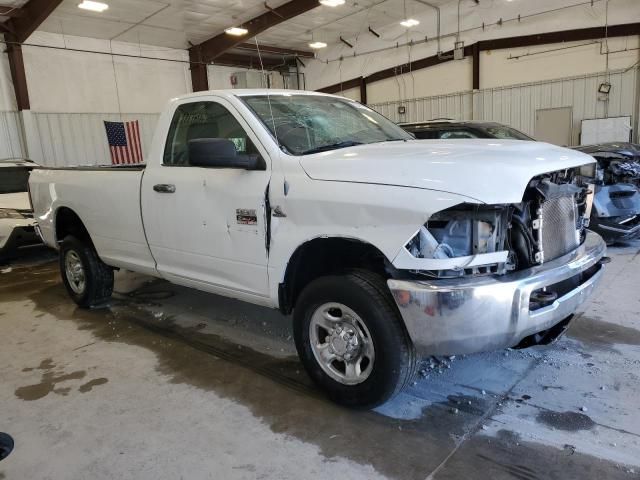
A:
<svg viewBox="0 0 640 480">
<path fill-rule="evenodd" d="M 400 126 L 421 140 L 453 140 L 457 138 L 501 138 L 503 140 L 533 140 L 533 138 L 496 122 L 455 121 L 449 119 L 428 122 L 401 123 Z"/>
</svg>

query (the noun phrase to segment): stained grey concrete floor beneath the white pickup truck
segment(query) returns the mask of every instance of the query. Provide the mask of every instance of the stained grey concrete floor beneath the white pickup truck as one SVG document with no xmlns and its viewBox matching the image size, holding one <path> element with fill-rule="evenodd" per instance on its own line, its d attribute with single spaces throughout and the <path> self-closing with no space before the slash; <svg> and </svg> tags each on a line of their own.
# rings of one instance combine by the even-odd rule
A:
<svg viewBox="0 0 640 480">
<path fill-rule="evenodd" d="M 426 360 L 372 412 L 326 401 L 289 319 L 118 274 L 83 311 L 34 251 L 0 267 L 13 479 L 640 478 L 640 243 L 550 347 Z"/>
</svg>

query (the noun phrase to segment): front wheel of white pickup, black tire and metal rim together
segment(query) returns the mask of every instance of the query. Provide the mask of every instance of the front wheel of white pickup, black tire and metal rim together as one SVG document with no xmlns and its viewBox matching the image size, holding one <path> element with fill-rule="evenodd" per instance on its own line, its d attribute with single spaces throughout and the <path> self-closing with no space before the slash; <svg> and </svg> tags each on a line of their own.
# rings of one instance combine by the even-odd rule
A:
<svg viewBox="0 0 640 480">
<path fill-rule="evenodd" d="M 295 305 L 294 338 L 309 376 L 344 406 L 376 407 L 415 375 L 416 354 L 393 298 L 382 277 L 368 271 L 309 283 Z M 355 371 L 347 367 L 354 363 L 359 363 Z"/>
</svg>

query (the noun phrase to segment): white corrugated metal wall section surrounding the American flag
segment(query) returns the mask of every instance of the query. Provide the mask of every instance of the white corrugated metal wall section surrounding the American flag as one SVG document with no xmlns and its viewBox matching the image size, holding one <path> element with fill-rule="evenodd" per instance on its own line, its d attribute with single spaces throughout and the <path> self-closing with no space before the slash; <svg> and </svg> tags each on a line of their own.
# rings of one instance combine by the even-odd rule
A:
<svg viewBox="0 0 640 480">
<path fill-rule="evenodd" d="M 28 113 L 29 157 L 40 165 L 105 165 L 111 163 L 104 121 L 138 120 L 142 153 L 149 152 L 158 114 Z M 27 122 L 25 122 L 26 124 Z"/>
</svg>

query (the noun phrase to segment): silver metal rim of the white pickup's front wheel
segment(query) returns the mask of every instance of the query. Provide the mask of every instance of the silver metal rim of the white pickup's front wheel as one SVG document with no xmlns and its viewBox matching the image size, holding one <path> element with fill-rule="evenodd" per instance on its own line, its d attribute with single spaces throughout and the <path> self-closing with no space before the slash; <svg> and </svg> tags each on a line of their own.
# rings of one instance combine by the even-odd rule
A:
<svg viewBox="0 0 640 480">
<path fill-rule="evenodd" d="M 371 375 L 373 339 L 360 316 L 346 305 L 320 305 L 311 316 L 309 339 L 318 365 L 337 382 L 357 385 Z"/>
</svg>

